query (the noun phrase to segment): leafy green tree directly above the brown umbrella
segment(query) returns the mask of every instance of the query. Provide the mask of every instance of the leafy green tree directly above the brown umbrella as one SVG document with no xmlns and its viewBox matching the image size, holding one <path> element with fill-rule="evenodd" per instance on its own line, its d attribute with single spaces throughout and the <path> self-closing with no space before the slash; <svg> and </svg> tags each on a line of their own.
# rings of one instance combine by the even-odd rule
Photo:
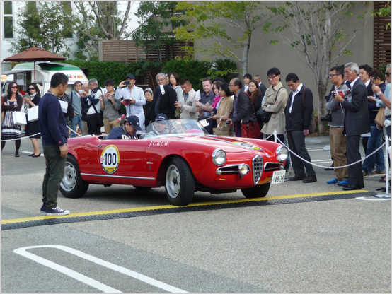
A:
<svg viewBox="0 0 392 294">
<path fill-rule="evenodd" d="M 12 47 L 8 51 L 16 54 L 34 45 L 54 54 L 69 57 L 69 48 L 65 40 L 70 32 L 67 25 L 58 18 L 58 6 L 53 2 L 25 4 L 18 11 L 20 20 L 15 27 L 18 37 L 11 41 Z"/>
</svg>

